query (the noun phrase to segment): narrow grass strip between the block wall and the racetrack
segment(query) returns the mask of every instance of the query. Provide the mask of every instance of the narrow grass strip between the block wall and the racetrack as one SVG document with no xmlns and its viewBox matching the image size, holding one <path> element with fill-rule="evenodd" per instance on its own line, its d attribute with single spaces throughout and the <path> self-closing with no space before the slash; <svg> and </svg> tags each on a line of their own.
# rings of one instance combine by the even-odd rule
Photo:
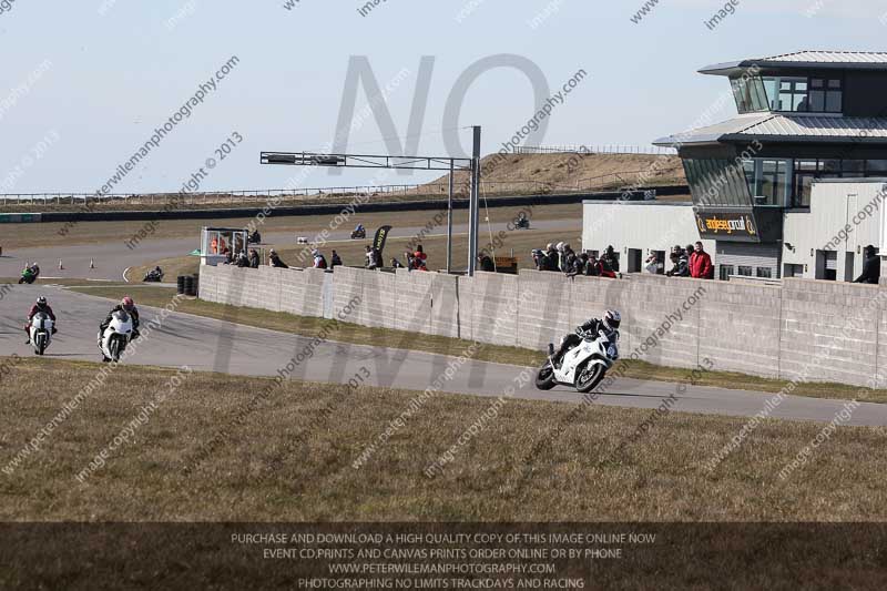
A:
<svg viewBox="0 0 887 591">
<path fill-rule="evenodd" d="M 105 285 L 77 286 L 71 287 L 71 289 L 111 299 L 120 299 L 124 295 L 131 295 L 131 291 L 126 287 Z M 174 293 L 174 289 L 167 287 L 143 287 L 139 289 L 136 297 L 140 305 L 163 307 L 170 302 Z M 295 316 L 257 308 L 241 308 L 204 302 L 202 299 L 183 299 L 177 310 L 304 336 L 317 335 L 324 324 L 323 318 Z M 470 345 L 468 340 L 407 333 L 404 330 L 391 330 L 388 328 L 370 328 L 356 324 L 343 324 L 341 329 L 336 335 L 336 340 L 356 345 L 388 346 L 442 355 L 458 355 Z M 542 363 L 544 353 L 520 347 L 485 345 L 478 350 L 475 358 L 481 361 L 533 367 Z M 625 377 L 629 378 L 674 383 L 686 380 L 686 369 L 663 367 L 645 361 L 623 360 L 620 361 L 620 364 L 624 364 L 626 368 Z M 768 379 L 731 371 L 705 371 L 694 384 L 696 386 L 713 386 L 734 390 L 778 393 L 789 383 L 781 379 Z M 846 384 L 802 383 L 796 386 L 792 394 L 813 398 L 887 403 L 887 390 L 859 388 L 858 386 L 849 386 Z"/>
</svg>

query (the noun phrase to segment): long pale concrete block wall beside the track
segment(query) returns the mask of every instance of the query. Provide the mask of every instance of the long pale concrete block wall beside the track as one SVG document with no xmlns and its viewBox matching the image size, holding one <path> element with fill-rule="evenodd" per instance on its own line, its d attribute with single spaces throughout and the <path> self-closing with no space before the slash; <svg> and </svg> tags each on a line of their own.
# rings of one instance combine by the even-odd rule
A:
<svg viewBox="0 0 887 591">
<path fill-rule="evenodd" d="M 200 296 L 326 318 L 359 296 L 348 322 L 532 349 L 618 308 L 623 357 L 687 368 L 710 359 L 721 371 L 858 386 L 887 369 L 887 289 L 873 285 L 203 266 Z"/>
</svg>

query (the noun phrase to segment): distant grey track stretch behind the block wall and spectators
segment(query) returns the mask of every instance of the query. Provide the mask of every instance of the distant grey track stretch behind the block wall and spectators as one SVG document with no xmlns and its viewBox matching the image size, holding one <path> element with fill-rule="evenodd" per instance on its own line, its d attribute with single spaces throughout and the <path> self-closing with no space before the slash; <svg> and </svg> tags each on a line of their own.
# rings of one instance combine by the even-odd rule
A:
<svg viewBox="0 0 887 591">
<path fill-rule="evenodd" d="M 429 212 L 429 217 L 435 212 Z M 396 221 L 395 221 L 396 222 Z M 582 223 L 580 220 L 540 220 L 533 221 L 534 230 L 562 230 L 564 232 L 580 232 Z M 504 230 L 506 224 L 492 224 L 492 231 Z M 4 236 L 7 244 L 16 242 L 16 226 L 9 226 L 9 233 Z M 416 227 L 395 227 L 391 237 L 415 236 L 421 228 Z M 374 231 L 369 231 L 370 233 Z M 456 224 L 453 232 L 461 234 L 468 232 L 467 224 Z M 481 237 L 487 232 L 486 226 L 481 228 Z M 316 233 L 298 233 L 308 240 L 314 240 Z M 351 228 L 337 230 L 330 233 L 329 241 L 348 241 Z M 446 235 L 446 226 L 437 227 L 429 235 Z M 267 244 L 295 246 L 296 232 L 263 232 L 262 237 Z M 371 238 L 371 235 L 369 236 Z M 129 237 L 128 237 L 129 238 Z M 366 242 L 366 241 L 365 241 Z M 124 246 L 124 238 L 112 243 L 51 246 L 44 248 L 10 248 L 3 247 L 3 256 L 0 256 L 0 277 L 18 277 L 26 263 L 37 262 L 40 265 L 41 274 L 48 277 L 61 278 L 92 278 L 122 281 L 123 272 L 129 267 L 147 265 L 162 258 L 174 258 L 184 256 L 200 247 L 200 236 L 191 238 L 163 238 L 146 240 L 136 248 L 129 249 Z M 544 246 L 544 245 L 541 245 Z M 335 247 L 335 245 L 330 245 Z M 328 253 L 327 253 L 328 254 Z M 64 269 L 59 269 L 59 259 L 62 261 Z M 90 268 L 90 261 L 93 261 L 95 268 Z M 129 277 L 131 282 L 139 282 L 142 277 Z"/>
</svg>

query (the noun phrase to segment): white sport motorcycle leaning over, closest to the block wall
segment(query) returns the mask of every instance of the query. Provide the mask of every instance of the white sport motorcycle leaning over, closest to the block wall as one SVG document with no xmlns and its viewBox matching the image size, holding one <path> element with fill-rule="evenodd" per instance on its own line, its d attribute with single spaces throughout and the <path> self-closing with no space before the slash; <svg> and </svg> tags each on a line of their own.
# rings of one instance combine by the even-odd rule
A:
<svg viewBox="0 0 887 591">
<path fill-rule="evenodd" d="M 554 346 L 549 345 L 548 360 L 539 368 L 536 387 L 550 390 L 558 384 L 573 386 L 582 394 L 590 393 L 601 383 L 606 371 L 619 359 L 619 333 L 609 337 L 603 330 L 597 335 L 579 334 L 582 342 L 563 354 L 560 366 L 554 366 Z"/>
</svg>

